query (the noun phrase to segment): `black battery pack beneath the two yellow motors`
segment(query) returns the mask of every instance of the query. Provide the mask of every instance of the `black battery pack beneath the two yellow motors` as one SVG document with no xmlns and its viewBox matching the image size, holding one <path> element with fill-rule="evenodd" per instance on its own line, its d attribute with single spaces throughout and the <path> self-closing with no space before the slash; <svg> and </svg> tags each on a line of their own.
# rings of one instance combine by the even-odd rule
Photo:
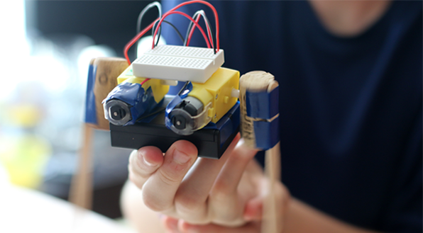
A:
<svg viewBox="0 0 423 233">
<path fill-rule="evenodd" d="M 187 140 L 198 149 L 198 156 L 219 159 L 239 132 L 239 102 L 216 124 L 209 123 L 192 135 L 178 135 L 165 126 L 165 113 L 160 113 L 148 123 L 118 126 L 110 124 L 111 146 L 139 149 L 155 146 L 165 152 L 173 142 Z"/>
</svg>

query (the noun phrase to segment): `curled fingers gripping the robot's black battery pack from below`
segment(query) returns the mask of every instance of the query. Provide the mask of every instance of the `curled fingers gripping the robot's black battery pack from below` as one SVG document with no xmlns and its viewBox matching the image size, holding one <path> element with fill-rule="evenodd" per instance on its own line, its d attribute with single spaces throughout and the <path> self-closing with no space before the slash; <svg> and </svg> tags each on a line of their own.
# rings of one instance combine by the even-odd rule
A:
<svg viewBox="0 0 423 233">
<path fill-rule="evenodd" d="M 145 205 L 163 215 L 195 225 L 244 225 L 261 217 L 257 211 L 248 216 L 248 210 L 262 205 L 264 176 L 253 161 L 257 151 L 242 142 L 236 146 L 239 138 L 219 160 L 197 159 L 194 144 L 183 140 L 165 157 L 156 147 L 143 147 L 131 154 L 129 178 L 141 188 Z"/>
</svg>

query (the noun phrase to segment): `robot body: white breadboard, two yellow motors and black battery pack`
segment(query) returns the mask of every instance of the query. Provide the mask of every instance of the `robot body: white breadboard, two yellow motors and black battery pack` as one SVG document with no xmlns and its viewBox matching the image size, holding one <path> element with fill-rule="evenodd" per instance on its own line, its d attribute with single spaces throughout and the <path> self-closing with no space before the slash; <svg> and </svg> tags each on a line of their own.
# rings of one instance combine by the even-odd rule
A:
<svg viewBox="0 0 423 233">
<path fill-rule="evenodd" d="M 189 140 L 200 157 L 219 159 L 239 131 L 240 118 L 239 72 L 220 67 L 223 52 L 160 45 L 136 59 L 102 101 L 111 145 L 165 151 L 177 140 Z M 167 95 L 172 79 L 185 85 Z"/>
</svg>

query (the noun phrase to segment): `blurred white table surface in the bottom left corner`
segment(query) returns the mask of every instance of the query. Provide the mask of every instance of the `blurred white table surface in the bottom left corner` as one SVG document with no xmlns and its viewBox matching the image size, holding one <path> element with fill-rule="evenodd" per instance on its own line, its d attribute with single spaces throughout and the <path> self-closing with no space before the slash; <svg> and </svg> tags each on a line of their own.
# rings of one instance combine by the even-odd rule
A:
<svg viewBox="0 0 423 233">
<path fill-rule="evenodd" d="M 95 212 L 76 208 L 65 200 L 12 186 L 4 173 L 0 176 L 0 232 L 135 233 L 129 227 Z"/>
</svg>

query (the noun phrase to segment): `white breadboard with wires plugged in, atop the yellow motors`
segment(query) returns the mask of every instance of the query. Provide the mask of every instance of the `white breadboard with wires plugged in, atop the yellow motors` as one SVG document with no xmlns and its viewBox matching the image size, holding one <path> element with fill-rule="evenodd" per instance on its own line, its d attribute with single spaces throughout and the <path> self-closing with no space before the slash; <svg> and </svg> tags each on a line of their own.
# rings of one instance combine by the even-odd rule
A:
<svg viewBox="0 0 423 233">
<path fill-rule="evenodd" d="M 204 84 L 224 64 L 224 50 L 158 45 L 132 63 L 133 75 Z"/>
</svg>

